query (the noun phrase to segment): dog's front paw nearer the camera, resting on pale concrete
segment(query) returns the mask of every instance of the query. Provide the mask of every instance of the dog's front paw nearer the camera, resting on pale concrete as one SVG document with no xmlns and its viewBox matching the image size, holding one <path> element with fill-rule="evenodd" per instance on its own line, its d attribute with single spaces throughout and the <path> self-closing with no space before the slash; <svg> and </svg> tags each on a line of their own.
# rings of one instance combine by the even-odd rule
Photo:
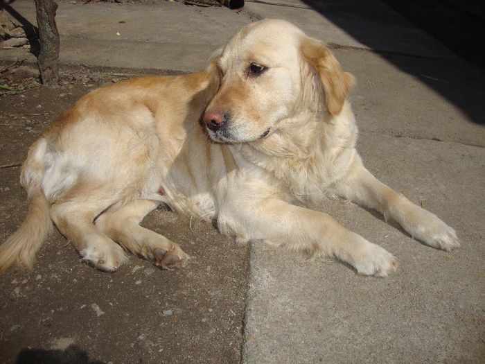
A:
<svg viewBox="0 0 485 364">
<path fill-rule="evenodd" d="M 353 266 L 360 275 L 387 277 L 398 267 L 391 253 L 369 241 L 365 241 L 355 253 Z"/>
</svg>

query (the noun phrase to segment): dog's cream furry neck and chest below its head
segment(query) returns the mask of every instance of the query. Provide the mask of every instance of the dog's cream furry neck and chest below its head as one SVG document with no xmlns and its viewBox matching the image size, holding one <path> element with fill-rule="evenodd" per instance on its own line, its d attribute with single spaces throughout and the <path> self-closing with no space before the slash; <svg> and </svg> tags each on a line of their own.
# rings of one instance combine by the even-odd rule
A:
<svg viewBox="0 0 485 364">
<path fill-rule="evenodd" d="M 288 184 L 296 196 L 316 196 L 346 172 L 355 155 L 357 134 L 346 103 L 337 116 L 302 113 L 283 120 L 266 138 L 243 144 L 239 150 L 248 162 Z"/>
</svg>

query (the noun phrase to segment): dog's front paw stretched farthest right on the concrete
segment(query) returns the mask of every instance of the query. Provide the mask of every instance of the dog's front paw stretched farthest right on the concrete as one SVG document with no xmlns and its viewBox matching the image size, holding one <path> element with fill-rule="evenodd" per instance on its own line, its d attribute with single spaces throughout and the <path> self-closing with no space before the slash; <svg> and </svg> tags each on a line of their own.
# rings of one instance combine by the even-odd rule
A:
<svg viewBox="0 0 485 364">
<path fill-rule="evenodd" d="M 422 210 L 416 228 L 411 229 L 409 233 L 412 234 L 414 239 L 447 252 L 460 246 L 455 229 L 446 225 L 443 220 L 430 211 Z"/>
</svg>

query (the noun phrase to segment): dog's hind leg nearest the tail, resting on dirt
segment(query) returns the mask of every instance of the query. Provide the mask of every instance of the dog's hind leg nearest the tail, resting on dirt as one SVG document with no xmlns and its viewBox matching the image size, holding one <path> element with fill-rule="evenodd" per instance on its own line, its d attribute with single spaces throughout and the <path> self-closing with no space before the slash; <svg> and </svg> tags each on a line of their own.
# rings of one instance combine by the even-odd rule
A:
<svg viewBox="0 0 485 364">
<path fill-rule="evenodd" d="M 127 257 L 123 248 L 100 232 L 94 219 L 110 203 L 92 194 L 62 198 L 51 207 L 51 218 L 90 266 L 114 272 Z M 76 197 L 73 197 L 76 196 Z"/>
</svg>

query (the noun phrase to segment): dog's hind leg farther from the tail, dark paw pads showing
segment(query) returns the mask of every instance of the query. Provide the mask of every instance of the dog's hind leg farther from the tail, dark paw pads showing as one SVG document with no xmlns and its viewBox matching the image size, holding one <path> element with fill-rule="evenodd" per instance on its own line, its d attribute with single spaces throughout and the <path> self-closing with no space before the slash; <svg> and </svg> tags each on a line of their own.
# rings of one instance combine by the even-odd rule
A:
<svg viewBox="0 0 485 364">
<path fill-rule="evenodd" d="M 158 205 L 152 200 L 133 200 L 120 209 L 106 211 L 96 220 L 96 226 L 127 250 L 155 261 L 161 268 L 183 267 L 188 255 L 177 244 L 139 225 Z"/>
</svg>

